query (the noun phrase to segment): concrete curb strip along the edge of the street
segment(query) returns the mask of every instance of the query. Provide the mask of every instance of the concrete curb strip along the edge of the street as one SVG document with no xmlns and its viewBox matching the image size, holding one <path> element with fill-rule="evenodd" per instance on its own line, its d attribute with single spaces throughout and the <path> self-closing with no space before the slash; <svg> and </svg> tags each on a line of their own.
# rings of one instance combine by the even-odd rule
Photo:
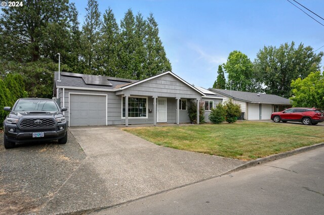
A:
<svg viewBox="0 0 324 215">
<path fill-rule="evenodd" d="M 117 203 L 117 204 L 113 204 L 113 205 L 107 205 L 107 206 L 103 206 L 103 207 L 81 209 L 81 210 L 77 210 L 77 211 L 69 211 L 69 212 L 56 213 L 56 214 L 60 214 L 60 215 L 61 214 L 76 215 L 76 214 L 89 214 L 91 212 L 98 212 L 98 211 L 101 211 L 101 210 L 104 210 L 104 209 L 113 208 L 113 207 L 116 207 L 116 206 L 120 206 L 120 205 L 123 205 L 123 204 L 127 204 L 127 203 L 130 203 L 130 202 L 136 201 L 136 200 L 140 200 L 140 199 L 143 199 L 143 198 L 146 198 L 146 197 L 149 197 L 149 196 L 153 196 L 153 195 L 156 195 L 156 194 L 168 192 L 168 191 L 175 190 L 175 189 L 178 189 L 178 188 L 181 188 L 181 187 L 186 187 L 188 185 L 192 185 L 192 184 L 207 181 L 207 180 L 210 180 L 210 179 L 213 179 L 213 178 L 217 178 L 217 177 L 220 177 L 220 176 L 224 176 L 224 175 L 227 175 L 227 174 L 232 173 L 232 172 L 244 170 L 244 169 L 247 169 L 247 168 L 250 168 L 250 167 L 255 167 L 255 166 L 259 165 L 259 164 L 265 164 L 265 163 L 271 162 L 271 161 L 276 160 L 276 159 L 281 159 L 281 158 L 289 157 L 289 156 L 292 156 L 292 155 L 295 155 L 295 154 L 300 154 L 300 153 L 303 153 L 305 151 L 310 151 L 310 150 L 313 150 L 313 149 L 316 149 L 316 148 L 319 148 L 319 147 L 323 147 L 323 146 L 324 146 L 324 142 L 314 144 L 314 145 L 310 145 L 310 146 L 304 146 L 304 147 L 297 148 L 297 149 L 294 149 L 294 150 L 291 150 L 291 151 L 282 152 L 282 153 L 279 153 L 279 154 L 274 154 L 274 155 L 270 155 L 270 156 L 263 157 L 263 158 L 258 158 L 258 159 L 255 159 L 255 160 L 251 160 L 250 162 L 248 162 L 246 164 L 243 164 L 241 166 L 238 166 L 238 167 L 236 167 L 236 168 L 234 168 L 232 170 L 229 170 L 229 171 L 227 171 L 225 173 L 222 173 L 222 174 L 220 174 L 218 176 L 213 176 L 213 177 L 209 177 L 209 178 L 199 180 L 199 181 L 196 181 L 196 182 L 193 182 L 193 183 L 184 184 L 184 185 L 181 185 L 181 186 L 178 186 L 178 187 L 174 187 L 174 188 L 171 188 L 171 189 L 168 189 L 168 190 L 163 190 L 163 191 L 160 191 L 160 192 L 157 192 L 157 193 L 142 196 L 142 197 L 139 197 L 139 198 L 136 198 L 136 199 L 133 199 L 133 200 L 126 201 L 126 202 L 121 202 L 121 203 Z"/>
</svg>

